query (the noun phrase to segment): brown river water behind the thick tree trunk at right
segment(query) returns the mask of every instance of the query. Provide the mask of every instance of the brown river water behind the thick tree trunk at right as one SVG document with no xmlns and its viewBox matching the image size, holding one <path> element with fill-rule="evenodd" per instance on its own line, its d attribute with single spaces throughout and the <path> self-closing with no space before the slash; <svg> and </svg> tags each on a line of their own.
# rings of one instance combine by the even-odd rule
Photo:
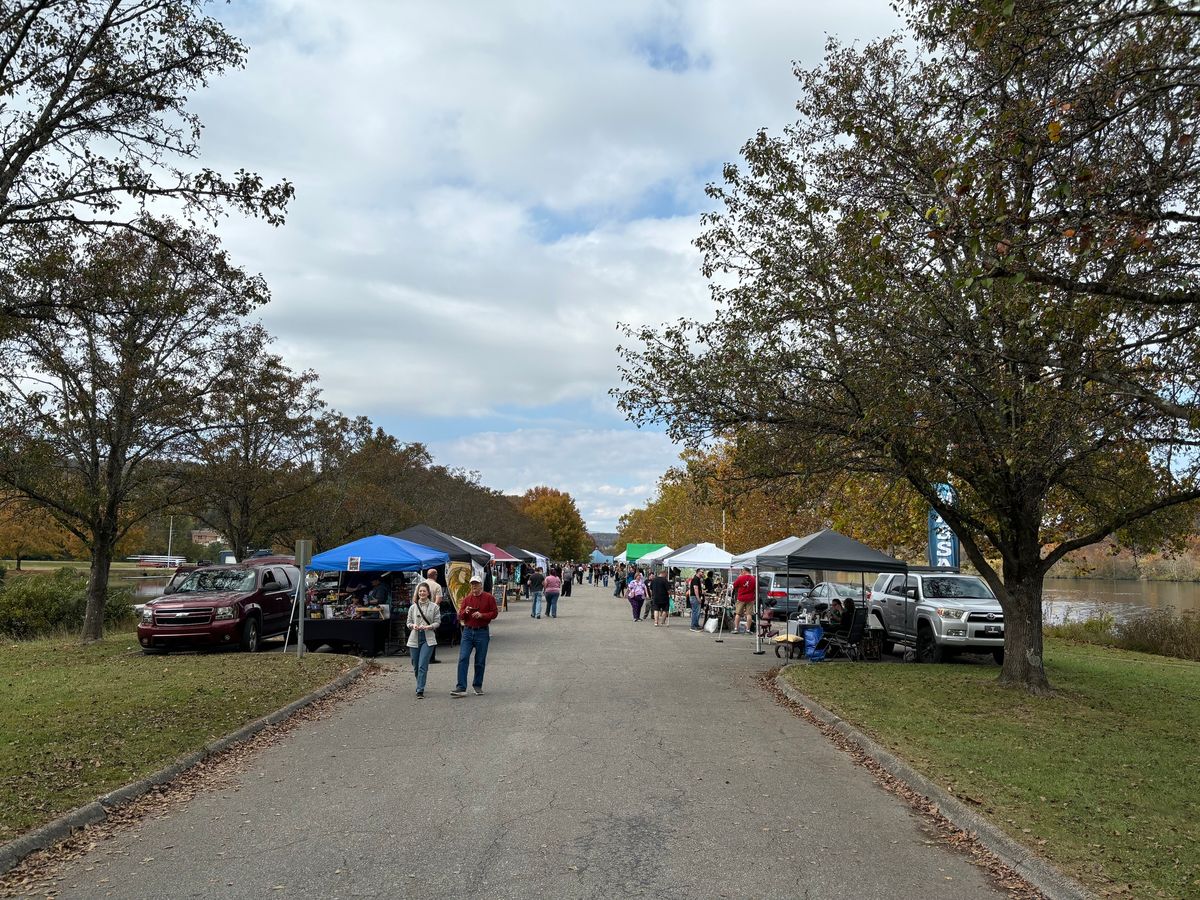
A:
<svg viewBox="0 0 1200 900">
<path fill-rule="evenodd" d="M 1146 608 L 1200 612 L 1200 583 L 1194 581 L 1112 581 L 1046 578 L 1043 616 L 1046 622 L 1080 622 L 1109 613 L 1123 619 Z"/>
</svg>

